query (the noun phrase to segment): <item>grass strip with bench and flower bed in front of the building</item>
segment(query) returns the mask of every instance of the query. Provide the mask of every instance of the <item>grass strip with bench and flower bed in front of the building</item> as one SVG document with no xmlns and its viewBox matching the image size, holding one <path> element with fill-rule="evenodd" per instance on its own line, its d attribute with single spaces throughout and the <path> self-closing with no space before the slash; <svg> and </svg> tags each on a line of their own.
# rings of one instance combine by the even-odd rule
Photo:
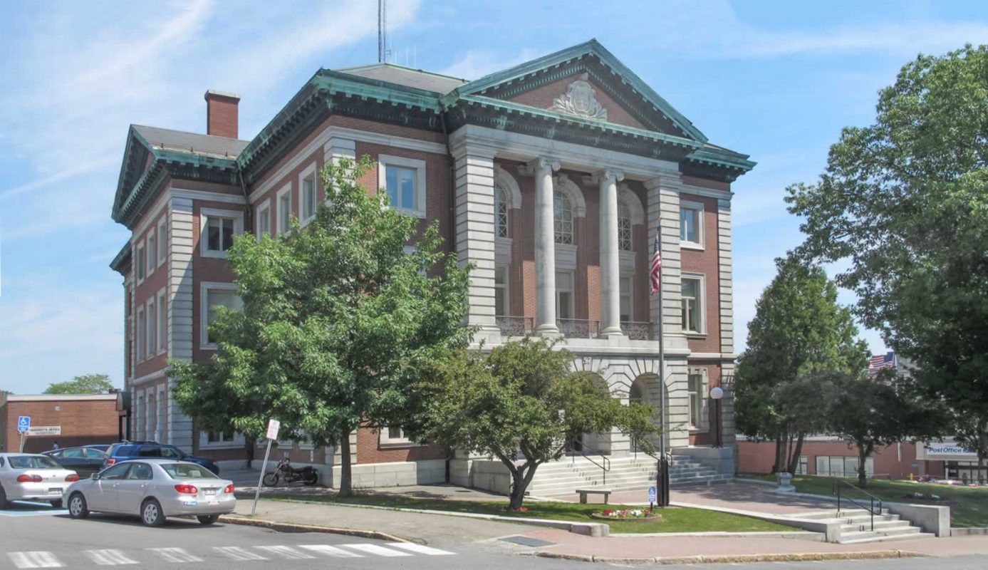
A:
<svg viewBox="0 0 988 570">
<path fill-rule="evenodd" d="M 278 498 L 266 496 L 265 498 Z M 551 519 L 554 521 L 574 521 L 580 523 L 604 523 L 590 518 L 591 513 L 604 509 L 641 509 L 623 505 L 580 505 L 578 503 L 526 503 L 528 511 L 514 513 L 505 510 L 507 502 L 496 501 L 455 501 L 448 499 L 416 499 L 394 495 L 358 495 L 348 498 L 337 497 L 288 497 L 291 500 L 320 502 L 329 504 L 371 505 L 375 507 L 390 507 L 394 509 L 427 509 L 432 511 L 452 511 L 456 513 L 479 513 L 483 515 L 500 515 L 517 517 L 519 519 Z M 785 531 L 791 527 L 760 521 L 750 517 L 704 511 L 702 509 L 685 509 L 669 507 L 660 509 L 661 523 L 627 523 L 607 521 L 612 532 L 704 532 L 722 530 L 728 532 L 741 531 Z"/>
</svg>

